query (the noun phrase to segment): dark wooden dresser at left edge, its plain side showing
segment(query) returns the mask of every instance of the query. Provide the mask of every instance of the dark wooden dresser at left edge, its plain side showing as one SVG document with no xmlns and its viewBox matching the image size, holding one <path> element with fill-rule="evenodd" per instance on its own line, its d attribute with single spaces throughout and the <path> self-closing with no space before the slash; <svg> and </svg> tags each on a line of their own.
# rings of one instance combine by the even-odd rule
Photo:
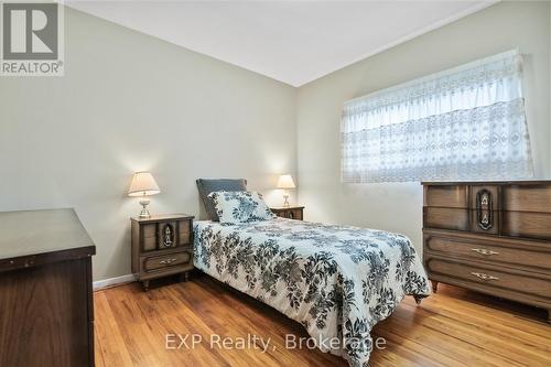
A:
<svg viewBox="0 0 551 367">
<path fill-rule="evenodd" d="M 0 366 L 94 366 L 95 252 L 73 209 L 0 213 Z"/>
</svg>

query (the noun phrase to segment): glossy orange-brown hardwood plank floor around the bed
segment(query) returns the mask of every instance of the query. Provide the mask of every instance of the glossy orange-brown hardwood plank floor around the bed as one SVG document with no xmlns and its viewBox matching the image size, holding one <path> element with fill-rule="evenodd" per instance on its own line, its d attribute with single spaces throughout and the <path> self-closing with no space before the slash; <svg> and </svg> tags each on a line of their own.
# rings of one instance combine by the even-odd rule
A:
<svg viewBox="0 0 551 367">
<path fill-rule="evenodd" d="M 207 276 L 145 293 L 138 283 L 97 291 L 96 365 L 122 366 L 347 366 L 317 349 L 285 349 L 284 335 L 306 337 L 301 325 Z M 417 306 L 408 296 L 379 323 L 383 337 L 371 366 L 551 366 L 551 326 L 543 311 L 444 284 Z M 166 334 L 197 333 L 191 348 L 166 349 Z M 209 335 L 271 338 L 260 349 L 209 348 Z M 168 345 L 176 347 L 177 337 Z M 260 343 L 257 343 L 261 347 Z"/>
</svg>

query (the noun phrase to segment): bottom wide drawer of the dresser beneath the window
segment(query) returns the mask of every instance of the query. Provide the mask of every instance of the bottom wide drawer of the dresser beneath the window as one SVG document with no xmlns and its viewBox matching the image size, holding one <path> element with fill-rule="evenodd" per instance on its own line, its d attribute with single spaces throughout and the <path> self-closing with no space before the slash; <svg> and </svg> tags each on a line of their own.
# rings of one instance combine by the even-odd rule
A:
<svg viewBox="0 0 551 367">
<path fill-rule="evenodd" d="M 490 265 L 455 261 L 429 256 L 425 261 L 431 279 L 473 289 L 529 294 L 551 304 L 551 277 L 519 270 L 508 271 Z M 473 285 L 473 287 L 469 287 Z"/>
</svg>

